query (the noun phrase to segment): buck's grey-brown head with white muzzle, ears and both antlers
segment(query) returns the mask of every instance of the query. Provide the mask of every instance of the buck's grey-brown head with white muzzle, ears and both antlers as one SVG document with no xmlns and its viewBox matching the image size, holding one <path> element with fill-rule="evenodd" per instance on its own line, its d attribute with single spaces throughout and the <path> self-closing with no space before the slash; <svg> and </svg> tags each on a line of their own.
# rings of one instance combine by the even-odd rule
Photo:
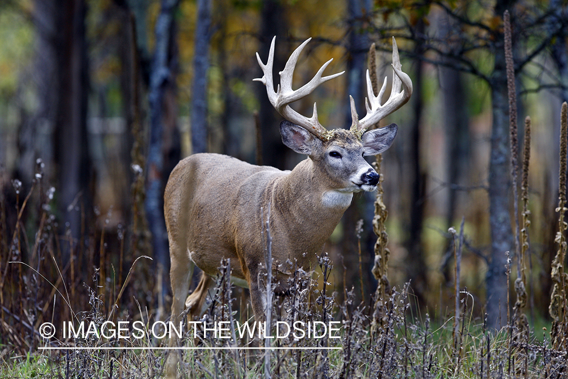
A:
<svg viewBox="0 0 568 379">
<path fill-rule="evenodd" d="M 329 172 L 326 176 L 328 182 L 339 181 L 336 191 L 352 193 L 361 190 L 373 191 L 378 184 L 379 176 L 362 158 L 365 155 L 377 155 L 390 147 L 396 136 L 398 126 L 390 124 L 387 127 L 366 131 L 378 122 L 404 105 L 412 94 L 412 81 L 402 72 L 396 41 L 392 39 L 392 68 L 394 69 L 392 90 L 389 99 L 381 104 L 385 93 L 387 78 L 378 95 L 373 92 L 369 70 L 366 73 L 367 98 L 365 105 L 367 114 L 359 119 L 357 110 L 350 98 L 351 115 L 353 122 L 349 130 L 327 130 L 318 120 L 318 109 L 314 103 L 314 111 L 310 118 L 300 115 L 290 107 L 290 104 L 312 93 L 320 84 L 336 78 L 344 72 L 322 76 L 325 68 L 331 63 L 328 60 L 314 78 L 297 90 L 292 89 L 292 78 L 298 57 L 302 49 L 308 44 L 307 39 L 299 45 L 290 56 L 285 68 L 280 72 L 280 85 L 274 90 L 272 77 L 274 64 L 273 38 L 270 44 L 268 61 L 262 63 L 257 53 L 258 64 L 264 76 L 254 79 L 266 86 L 266 93 L 274 109 L 278 111 L 288 122 L 282 122 L 280 132 L 285 145 L 295 152 L 306 154 L 312 161 L 319 163 L 320 167 Z M 347 200 L 345 199 L 344 202 Z M 349 199 L 350 202 L 350 199 Z"/>
</svg>

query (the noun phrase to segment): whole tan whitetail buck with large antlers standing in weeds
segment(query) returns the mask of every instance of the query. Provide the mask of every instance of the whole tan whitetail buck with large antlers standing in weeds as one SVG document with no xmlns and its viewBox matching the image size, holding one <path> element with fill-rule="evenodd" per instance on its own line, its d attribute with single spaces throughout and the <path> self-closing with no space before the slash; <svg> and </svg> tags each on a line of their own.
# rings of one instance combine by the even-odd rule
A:
<svg viewBox="0 0 568 379">
<path fill-rule="evenodd" d="M 266 215 L 270 207 L 273 280 L 277 283 L 275 291 L 283 293 L 290 268 L 282 264 L 290 260 L 309 269 L 349 207 L 353 193 L 376 189 L 379 175 L 363 156 L 389 148 L 397 126 L 365 130 L 399 109 L 412 93 L 412 82 L 401 70 L 394 38 L 389 100 L 381 105 L 386 78 L 375 96 L 367 70 L 366 116 L 358 119 L 350 98 L 351 128 L 331 131 L 319 123 L 315 104 L 311 118 L 290 107 L 290 103 L 310 94 L 323 82 L 343 74 L 321 77 L 329 60 L 308 84 L 293 90 L 294 68 L 308 41 L 290 56 L 275 91 L 273 39 L 266 65 L 257 53 L 264 76 L 255 79 L 266 86 L 270 102 L 287 120 L 280 124 L 283 143 L 295 152 L 306 154 L 306 160 L 291 171 L 281 171 L 224 155 L 195 154 L 179 162 L 170 175 L 164 212 L 172 263 L 172 321 L 176 324 L 185 309 L 194 264 L 203 270 L 203 275 L 197 289 L 185 301 L 192 316 L 203 311 L 207 290 L 214 282 L 211 277 L 218 274 L 220 261 L 227 258 L 231 259 L 233 281 L 250 289 L 254 317 L 264 318 L 266 289 L 262 288 L 260 274 L 266 267 L 261 209 Z"/>
</svg>

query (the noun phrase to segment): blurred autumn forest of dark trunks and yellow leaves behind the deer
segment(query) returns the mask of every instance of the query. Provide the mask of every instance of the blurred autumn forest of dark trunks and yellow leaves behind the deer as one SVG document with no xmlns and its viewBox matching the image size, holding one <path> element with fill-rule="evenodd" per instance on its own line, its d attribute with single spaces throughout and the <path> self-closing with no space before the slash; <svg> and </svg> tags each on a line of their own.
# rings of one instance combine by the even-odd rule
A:
<svg viewBox="0 0 568 379">
<path fill-rule="evenodd" d="M 87 288 L 97 283 L 116 284 L 100 294 L 110 307 L 132 268 L 120 309 L 138 309 L 136 298 L 156 319 L 168 315 L 161 197 L 173 166 L 200 151 L 280 169 L 303 159 L 282 144 L 281 117 L 264 86 L 252 81 L 261 77 L 254 54 L 265 60 L 273 36 L 276 71 L 312 37 L 296 68 L 296 87 L 330 58 L 327 73 L 346 70 L 295 104 L 310 115 L 317 102 L 328 129 L 349 126 L 349 95 L 364 109 L 371 43 L 379 77 L 389 76 L 390 85 L 395 36 L 414 93 L 382 122 L 399 125 L 381 169 L 390 284 L 410 281 L 416 310 L 443 320 L 455 301 L 448 228 L 457 229 L 463 218 L 461 286 L 474 298 L 475 316 L 503 326 L 509 282 L 516 278 L 506 269 L 515 232 L 505 10 L 511 13 L 521 141 L 525 115 L 533 125 L 529 320 L 549 322 L 559 114 L 568 100 L 567 6 L 560 0 L 3 1 L 3 334 L 17 339 L 18 327 L 10 324 L 39 323 L 42 314 L 65 319 L 67 312 L 54 305 L 52 288 L 37 291 L 43 279 L 33 270 L 9 261 L 29 264 L 61 290 L 66 282 L 79 310 L 89 306 Z M 339 298 L 353 286 L 357 300 L 368 302 L 377 286 L 373 201 L 374 194 L 356 195 L 326 245 Z M 153 260 L 136 261 L 141 256 Z M 18 353 L 30 348 L 24 338 L 10 343 L 22 348 Z"/>
</svg>

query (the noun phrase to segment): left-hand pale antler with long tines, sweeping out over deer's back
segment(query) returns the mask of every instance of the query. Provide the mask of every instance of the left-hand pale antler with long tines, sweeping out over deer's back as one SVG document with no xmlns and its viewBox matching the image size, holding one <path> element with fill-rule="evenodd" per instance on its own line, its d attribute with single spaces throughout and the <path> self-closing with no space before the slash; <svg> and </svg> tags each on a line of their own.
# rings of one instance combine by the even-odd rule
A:
<svg viewBox="0 0 568 379">
<path fill-rule="evenodd" d="M 255 81 L 262 82 L 266 86 L 266 93 L 268 93 L 268 99 L 272 106 L 281 114 L 285 119 L 289 120 L 290 122 L 306 129 L 307 131 L 314 134 L 320 140 L 327 140 L 329 139 L 329 131 L 326 130 L 318 121 L 318 110 L 316 109 L 316 104 L 314 103 L 314 113 L 310 118 L 306 116 L 300 115 L 295 110 L 291 109 L 290 104 L 311 94 L 312 91 L 316 89 L 320 84 L 327 82 L 333 78 L 336 78 L 343 74 L 345 71 L 342 71 L 337 74 L 329 75 L 321 77 L 321 74 L 325 70 L 325 68 L 331 63 L 333 59 L 328 60 L 324 63 L 323 66 L 318 70 L 318 73 L 315 74 L 314 78 L 310 80 L 307 84 L 304 84 L 302 88 L 297 90 L 292 89 L 292 78 L 294 76 L 294 68 L 296 67 L 296 63 L 298 62 L 298 56 L 302 49 L 308 42 L 310 42 L 311 38 L 308 38 L 304 43 L 298 46 L 288 59 L 284 70 L 280 72 L 280 85 L 278 85 L 278 89 L 274 91 L 274 81 L 272 78 L 272 68 L 274 65 L 274 41 L 276 37 L 272 39 L 272 44 L 270 44 L 270 52 L 268 54 L 268 61 L 266 64 L 263 64 L 260 56 L 256 53 L 256 58 L 258 60 L 258 65 L 264 72 L 264 76 L 262 78 L 253 79 Z M 401 104 L 402 105 L 402 104 Z"/>
</svg>

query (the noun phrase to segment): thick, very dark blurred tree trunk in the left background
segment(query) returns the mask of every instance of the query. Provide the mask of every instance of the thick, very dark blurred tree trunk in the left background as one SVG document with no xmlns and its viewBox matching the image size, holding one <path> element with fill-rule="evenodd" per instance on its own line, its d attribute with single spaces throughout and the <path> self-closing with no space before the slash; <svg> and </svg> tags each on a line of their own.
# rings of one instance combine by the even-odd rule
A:
<svg viewBox="0 0 568 379">
<path fill-rule="evenodd" d="M 60 232 L 70 232 L 81 254 L 82 220 L 91 214 L 91 164 L 87 144 L 87 44 L 85 39 L 86 5 L 83 0 L 53 3 L 55 16 L 54 84 L 57 101 L 53 147 L 59 189 Z M 69 244 L 61 244 L 62 259 L 69 259 Z"/>
</svg>

